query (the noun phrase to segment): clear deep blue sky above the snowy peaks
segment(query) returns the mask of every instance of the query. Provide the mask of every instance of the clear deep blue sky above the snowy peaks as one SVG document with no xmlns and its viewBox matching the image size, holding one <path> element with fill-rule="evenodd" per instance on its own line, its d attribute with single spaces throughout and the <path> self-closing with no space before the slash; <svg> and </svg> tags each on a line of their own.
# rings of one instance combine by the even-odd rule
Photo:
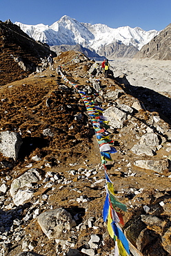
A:
<svg viewBox="0 0 171 256">
<path fill-rule="evenodd" d="M 171 0 L 0 0 L 0 20 L 52 25 L 63 15 L 79 22 L 162 30 L 171 23 Z"/>
</svg>

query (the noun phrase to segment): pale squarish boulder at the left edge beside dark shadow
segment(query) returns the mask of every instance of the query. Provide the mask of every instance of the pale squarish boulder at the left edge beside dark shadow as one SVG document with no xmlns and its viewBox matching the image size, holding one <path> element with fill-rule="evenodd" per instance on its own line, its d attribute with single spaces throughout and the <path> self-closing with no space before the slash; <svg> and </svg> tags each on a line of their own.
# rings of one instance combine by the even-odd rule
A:
<svg viewBox="0 0 171 256">
<path fill-rule="evenodd" d="M 17 160 L 22 138 L 19 133 L 12 131 L 2 131 L 0 134 L 0 152 L 3 156 Z"/>
</svg>

